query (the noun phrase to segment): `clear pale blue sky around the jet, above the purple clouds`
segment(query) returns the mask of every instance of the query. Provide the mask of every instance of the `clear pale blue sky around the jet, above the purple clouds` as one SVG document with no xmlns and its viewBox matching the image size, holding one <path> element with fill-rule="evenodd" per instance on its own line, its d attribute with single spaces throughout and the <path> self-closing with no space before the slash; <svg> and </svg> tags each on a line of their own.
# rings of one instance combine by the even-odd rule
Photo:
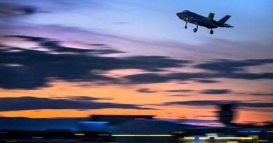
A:
<svg viewBox="0 0 273 143">
<path fill-rule="evenodd" d="M 27 1 L 20 3 L 30 4 Z M 53 13 L 41 13 L 31 17 L 34 24 L 60 24 L 67 27 L 80 27 L 86 30 L 98 30 L 148 40 L 173 40 L 189 44 L 205 43 L 213 38 L 235 41 L 252 41 L 272 44 L 273 22 L 272 1 L 189 1 L 189 0 L 151 0 L 151 1 L 34 1 L 43 10 Z M 207 16 L 215 13 L 220 20 L 232 15 L 228 23 L 233 29 L 216 29 L 216 34 L 208 35 L 209 29 L 200 28 L 193 33 L 195 25 L 183 29 L 185 22 L 175 13 L 191 10 Z M 29 22 L 28 20 L 26 20 Z M 122 22 L 123 24 L 118 24 Z"/>
</svg>

